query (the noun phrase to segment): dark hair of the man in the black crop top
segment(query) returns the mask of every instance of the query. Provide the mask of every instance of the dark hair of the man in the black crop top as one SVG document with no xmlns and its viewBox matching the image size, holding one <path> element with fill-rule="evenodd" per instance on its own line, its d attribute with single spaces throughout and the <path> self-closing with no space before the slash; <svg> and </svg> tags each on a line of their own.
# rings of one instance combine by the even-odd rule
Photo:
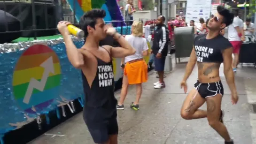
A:
<svg viewBox="0 0 256 144">
<path fill-rule="evenodd" d="M 222 23 L 225 23 L 226 27 L 233 23 L 234 14 L 231 13 L 228 9 L 222 6 L 218 6 L 217 12 L 224 17 Z"/>
</svg>

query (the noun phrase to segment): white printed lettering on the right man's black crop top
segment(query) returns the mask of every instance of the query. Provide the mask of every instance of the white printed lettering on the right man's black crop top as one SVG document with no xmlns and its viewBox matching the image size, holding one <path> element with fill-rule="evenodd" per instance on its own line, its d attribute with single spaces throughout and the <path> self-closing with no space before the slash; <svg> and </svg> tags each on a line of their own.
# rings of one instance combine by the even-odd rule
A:
<svg viewBox="0 0 256 144">
<path fill-rule="evenodd" d="M 194 45 L 195 54 L 197 61 L 203 62 L 203 58 L 209 58 L 209 55 L 213 53 L 213 48 L 208 48 L 205 46 Z"/>
</svg>

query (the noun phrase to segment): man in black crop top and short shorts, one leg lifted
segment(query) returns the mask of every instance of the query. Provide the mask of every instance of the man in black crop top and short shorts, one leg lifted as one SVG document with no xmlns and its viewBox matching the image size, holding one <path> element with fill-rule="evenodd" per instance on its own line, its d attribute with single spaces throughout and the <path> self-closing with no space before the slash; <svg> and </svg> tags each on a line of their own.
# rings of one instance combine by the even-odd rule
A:
<svg viewBox="0 0 256 144">
<path fill-rule="evenodd" d="M 225 144 L 233 144 L 233 140 L 223 124 L 224 113 L 221 111 L 224 90 L 219 77 L 219 67 L 222 62 L 224 63 L 225 78 L 232 92 L 232 104 L 237 103 L 238 96 L 232 69 L 233 47 L 228 39 L 221 36 L 219 32 L 230 25 L 233 18 L 234 15 L 228 9 L 217 7 L 217 14 L 208 23 L 209 33 L 194 39 L 194 47 L 186 65 L 186 73 L 180 83 L 186 93 L 186 80 L 197 61 L 198 80 L 183 103 L 181 117 L 186 120 L 207 117 L 209 125 L 225 139 Z M 207 111 L 198 109 L 204 102 L 207 104 Z"/>
</svg>

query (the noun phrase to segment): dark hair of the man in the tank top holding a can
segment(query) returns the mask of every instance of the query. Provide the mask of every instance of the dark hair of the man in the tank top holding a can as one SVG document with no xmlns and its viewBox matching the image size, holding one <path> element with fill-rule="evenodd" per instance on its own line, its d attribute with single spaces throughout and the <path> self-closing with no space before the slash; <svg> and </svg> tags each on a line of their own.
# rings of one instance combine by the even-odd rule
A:
<svg viewBox="0 0 256 144">
<path fill-rule="evenodd" d="M 103 9 L 93 9 L 86 12 L 80 19 L 79 25 L 80 29 L 85 31 L 85 38 L 88 36 L 87 26 L 90 26 L 95 29 L 95 24 L 97 23 L 98 18 L 104 18 L 106 12 Z"/>
</svg>

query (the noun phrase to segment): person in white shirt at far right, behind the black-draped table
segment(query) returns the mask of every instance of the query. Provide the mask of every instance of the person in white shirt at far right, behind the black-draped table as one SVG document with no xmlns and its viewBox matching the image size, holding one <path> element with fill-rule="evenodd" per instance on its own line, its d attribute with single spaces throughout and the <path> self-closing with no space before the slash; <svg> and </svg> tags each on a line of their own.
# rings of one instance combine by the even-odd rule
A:
<svg viewBox="0 0 256 144">
<path fill-rule="evenodd" d="M 255 32 L 254 23 L 251 23 L 251 19 L 247 18 L 246 22 L 244 23 L 244 35 L 245 35 L 246 41 L 254 41 L 255 39 L 254 32 Z M 246 35 L 250 35 L 250 36 L 246 36 Z"/>
</svg>

